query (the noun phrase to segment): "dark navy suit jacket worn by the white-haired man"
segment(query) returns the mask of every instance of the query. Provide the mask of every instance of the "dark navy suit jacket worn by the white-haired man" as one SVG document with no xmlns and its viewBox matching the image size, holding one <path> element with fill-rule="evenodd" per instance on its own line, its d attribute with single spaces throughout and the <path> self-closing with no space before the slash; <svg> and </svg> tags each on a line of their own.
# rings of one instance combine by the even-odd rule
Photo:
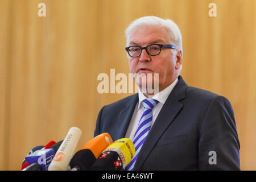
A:
<svg viewBox="0 0 256 182">
<path fill-rule="evenodd" d="M 137 102 L 138 94 L 134 94 L 102 107 L 94 136 L 109 133 L 113 140 L 125 138 Z M 239 170 L 239 150 L 230 102 L 188 86 L 179 76 L 134 170 Z"/>
</svg>

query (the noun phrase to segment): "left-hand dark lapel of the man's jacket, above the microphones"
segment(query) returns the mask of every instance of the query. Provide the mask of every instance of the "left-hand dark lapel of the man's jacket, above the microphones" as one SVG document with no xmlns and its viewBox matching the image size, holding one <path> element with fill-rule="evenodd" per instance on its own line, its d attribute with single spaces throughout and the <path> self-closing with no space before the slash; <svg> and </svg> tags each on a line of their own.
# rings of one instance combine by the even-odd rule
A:
<svg viewBox="0 0 256 182">
<path fill-rule="evenodd" d="M 116 134 L 113 140 L 117 140 L 125 137 L 129 123 L 131 121 L 131 117 L 133 116 L 133 112 L 138 101 L 139 101 L 139 97 L 137 93 L 131 96 L 130 100 L 126 102 L 122 111 L 118 115 L 118 122 L 117 122 L 117 127 L 115 132 Z"/>
</svg>

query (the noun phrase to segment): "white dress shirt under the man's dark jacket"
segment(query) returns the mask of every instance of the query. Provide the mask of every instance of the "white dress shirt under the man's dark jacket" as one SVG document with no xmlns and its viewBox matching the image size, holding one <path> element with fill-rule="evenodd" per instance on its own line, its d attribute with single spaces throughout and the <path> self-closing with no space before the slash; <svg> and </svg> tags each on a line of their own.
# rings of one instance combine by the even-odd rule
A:
<svg viewBox="0 0 256 182">
<path fill-rule="evenodd" d="M 174 86 L 177 84 L 177 82 L 178 82 L 178 78 L 176 78 L 176 80 L 172 82 L 171 85 L 167 86 L 167 88 L 163 89 L 161 92 L 159 92 L 158 94 L 155 94 L 152 97 L 153 99 L 158 100 L 159 102 L 158 104 L 156 104 L 156 106 L 152 110 L 153 118 L 152 118 L 151 127 L 154 124 L 156 117 L 158 117 L 158 114 L 162 109 L 164 102 L 166 102 L 168 96 L 174 89 Z M 133 140 L 134 134 L 139 124 L 139 119 L 141 119 L 141 116 L 143 114 L 144 107 L 143 107 L 142 101 L 147 98 L 146 96 L 144 96 L 144 94 L 141 92 L 140 89 L 138 90 L 138 94 L 139 94 L 139 102 L 135 106 L 133 116 L 131 117 L 129 127 L 125 135 L 125 138 L 130 138 L 131 140 Z"/>
</svg>

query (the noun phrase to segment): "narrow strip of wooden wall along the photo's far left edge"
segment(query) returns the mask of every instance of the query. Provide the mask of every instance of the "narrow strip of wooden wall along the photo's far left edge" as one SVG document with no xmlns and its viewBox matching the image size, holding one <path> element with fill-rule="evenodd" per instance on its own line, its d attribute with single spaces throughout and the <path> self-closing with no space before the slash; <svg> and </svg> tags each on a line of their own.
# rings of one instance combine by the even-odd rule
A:
<svg viewBox="0 0 256 182">
<path fill-rule="evenodd" d="M 7 162 L 5 156 L 8 154 L 7 135 L 9 130 L 8 97 L 9 97 L 9 51 L 11 44 L 10 37 L 11 9 L 10 1 L 0 1 L 0 169 L 5 169 Z"/>
</svg>

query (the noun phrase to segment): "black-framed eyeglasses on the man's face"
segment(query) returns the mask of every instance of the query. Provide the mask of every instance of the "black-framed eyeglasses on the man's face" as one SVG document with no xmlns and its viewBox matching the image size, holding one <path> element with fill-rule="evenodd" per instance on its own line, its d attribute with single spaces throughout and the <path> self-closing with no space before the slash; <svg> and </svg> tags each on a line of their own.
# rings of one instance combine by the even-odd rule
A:
<svg viewBox="0 0 256 182">
<path fill-rule="evenodd" d="M 126 47 L 126 51 L 128 52 L 129 56 L 131 57 L 139 57 L 141 56 L 141 52 L 143 49 L 146 49 L 148 55 L 150 56 L 156 56 L 159 55 L 159 53 L 162 50 L 162 47 L 167 47 L 171 49 L 175 49 L 174 45 L 171 44 L 150 44 L 146 47 L 141 47 L 141 46 L 129 46 Z"/>
</svg>

